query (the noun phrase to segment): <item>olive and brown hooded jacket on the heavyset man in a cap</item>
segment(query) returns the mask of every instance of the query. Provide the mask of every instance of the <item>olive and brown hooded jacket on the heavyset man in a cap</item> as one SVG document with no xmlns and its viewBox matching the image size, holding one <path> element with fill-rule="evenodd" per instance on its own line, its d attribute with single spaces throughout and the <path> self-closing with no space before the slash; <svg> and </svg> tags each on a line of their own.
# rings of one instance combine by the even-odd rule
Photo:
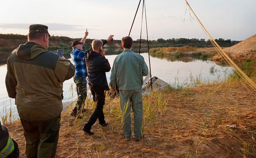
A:
<svg viewBox="0 0 256 158">
<path fill-rule="evenodd" d="M 5 79 L 19 116 L 28 121 L 58 117 L 63 108 L 63 82 L 74 73 L 75 67 L 69 60 L 34 42 L 21 44 L 7 60 Z"/>
</svg>

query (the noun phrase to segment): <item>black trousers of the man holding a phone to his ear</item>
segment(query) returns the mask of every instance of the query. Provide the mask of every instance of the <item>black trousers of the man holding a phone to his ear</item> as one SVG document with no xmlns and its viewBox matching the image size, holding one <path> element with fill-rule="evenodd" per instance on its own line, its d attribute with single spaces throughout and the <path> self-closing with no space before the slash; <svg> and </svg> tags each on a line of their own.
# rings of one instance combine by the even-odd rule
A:
<svg viewBox="0 0 256 158">
<path fill-rule="evenodd" d="M 90 91 L 93 95 L 93 101 L 96 102 L 96 107 L 93 114 L 91 115 L 88 123 L 85 124 L 84 128 L 87 130 L 92 129 L 92 125 L 99 119 L 99 124 L 103 125 L 106 123 L 105 116 L 103 114 L 103 106 L 105 104 L 104 90 L 94 88 L 90 86 Z"/>
</svg>

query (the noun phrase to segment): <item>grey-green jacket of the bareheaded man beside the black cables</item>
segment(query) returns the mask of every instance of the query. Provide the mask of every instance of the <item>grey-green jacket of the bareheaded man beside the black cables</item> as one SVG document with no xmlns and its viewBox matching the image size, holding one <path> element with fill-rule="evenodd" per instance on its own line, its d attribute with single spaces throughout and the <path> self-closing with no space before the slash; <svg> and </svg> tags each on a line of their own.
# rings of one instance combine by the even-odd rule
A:
<svg viewBox="0 0 256 158">
<path fill-rule="evenodd" d="M 119 90 L 140 89 L 143 85 L 143 76 L 147 74 L 148 66 L 144 58 L 126 49 L 114 60 L 109 85 L 114 89 L 117 83 Z"/>
</svg>

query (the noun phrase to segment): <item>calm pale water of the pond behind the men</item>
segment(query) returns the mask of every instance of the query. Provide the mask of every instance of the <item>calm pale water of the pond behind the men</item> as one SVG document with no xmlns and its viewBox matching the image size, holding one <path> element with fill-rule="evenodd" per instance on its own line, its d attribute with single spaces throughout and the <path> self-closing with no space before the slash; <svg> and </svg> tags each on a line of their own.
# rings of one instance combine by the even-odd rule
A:
<svg viewBox="0 0 256 158">
<path fill-rule="evenodd" d="M 116 53 L 111 53 L 113 55 L 108 55 L 106 51 L 106 58 L 108 59 L 110 65 L 113 65 L 115 57 L 121 53 L 122 50 Z M 149 67 L 149 57 L 148 53 L 141 53 L 144 57 L 145 62 Z M 72 59 L 70 59 L 71 62 Z M 216 80 L 223 80 L 231 72 L 232 68 L 228 66 L 220 66 L 209 60 L 201 60 L 195 57 L 181 57 L 179 59 L 166 59 L 159 57 L 151 57 L 151 76 L 158 77 L 163 81 L 166 81 L 170 85 L 176 84 L 189 84 L 190 78 L 200 78 L 201 80 L 206 80 L 207 82 L 213 82 Z M 10 108 L 14 111 L 14 116 L 18 116 L 16 106 L 14 104 L 14 99 L 8 97 L 6 86 L 5 86 L 5 76 L 7 72 L 7 65 L 0 65 L 0 115 L 6 113 L 6 110 Z M 111 71 L 110 71 L 111 72 Z M 110 72 L 107 72 L 107 80 L 109 82 Z M 89 89 L 89 88 L 87 88 Z M 76 97 L 76 89 L 73 78 L 66 80 L 63 83 L 63 102 Z"/>
</svg>

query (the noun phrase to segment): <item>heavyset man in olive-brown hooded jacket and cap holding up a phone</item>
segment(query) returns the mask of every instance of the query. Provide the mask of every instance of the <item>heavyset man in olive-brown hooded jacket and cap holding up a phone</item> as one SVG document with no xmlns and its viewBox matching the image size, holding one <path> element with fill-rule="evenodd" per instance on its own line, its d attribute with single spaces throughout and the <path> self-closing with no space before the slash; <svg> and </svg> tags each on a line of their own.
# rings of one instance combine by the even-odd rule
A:
<svg viewBox="0 0 256 158">
<path fill-rule="evenodd" d="M 69 60 L 47 50 L 49 37 L 47 26 L 29 26 L 28 42 L 7 60 L 6 88 L 9 97 L 15 98 L 28 158 L 55 157 L 63 82 L 75 74 Z"/>
</svg>

